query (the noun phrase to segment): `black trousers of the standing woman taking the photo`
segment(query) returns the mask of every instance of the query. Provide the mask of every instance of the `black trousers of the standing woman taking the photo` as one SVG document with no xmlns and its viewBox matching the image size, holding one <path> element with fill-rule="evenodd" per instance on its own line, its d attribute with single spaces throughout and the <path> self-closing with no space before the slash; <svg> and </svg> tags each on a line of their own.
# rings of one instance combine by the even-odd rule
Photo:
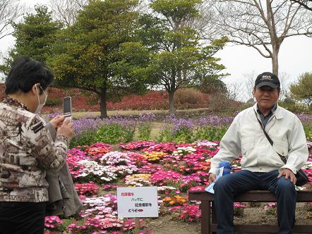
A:
<svg viewBox="0 0 312 234">
<path fill-rule="evenodd" d="M 0 234 L 42 234 L 46 202 L 0 202 Z"/>
</svg>

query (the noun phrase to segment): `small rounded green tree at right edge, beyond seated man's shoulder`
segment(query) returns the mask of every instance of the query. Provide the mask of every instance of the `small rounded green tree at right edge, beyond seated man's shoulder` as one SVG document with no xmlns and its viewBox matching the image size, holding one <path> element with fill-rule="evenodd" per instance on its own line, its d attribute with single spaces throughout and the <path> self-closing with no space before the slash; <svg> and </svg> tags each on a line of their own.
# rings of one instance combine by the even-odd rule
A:
<svg viewBox="0 0 312 234">
<path fill-rule="evenodd" d="M 312 73 L 299 75 L 299 80 L 290 85 L 290 92 L 294 99 L 302 101 L 308 106 L 312 105 Z"/>
</svg>

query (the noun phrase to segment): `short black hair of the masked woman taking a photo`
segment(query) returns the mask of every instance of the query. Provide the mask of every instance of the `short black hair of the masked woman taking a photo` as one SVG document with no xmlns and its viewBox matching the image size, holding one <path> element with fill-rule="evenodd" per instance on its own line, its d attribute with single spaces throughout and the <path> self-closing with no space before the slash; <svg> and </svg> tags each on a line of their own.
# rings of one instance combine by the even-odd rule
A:
<svg viewBox="0 0 312 234">
<path fill-rule="evenodd" d="M 35 61 L 28 56 L 20 56 L 13 61 L 11 70 L 6 77 L 6 94 L 14 94 L 18 90 L 28 92 L 32 86 L 40 83 L 43 90 L 51 85 L 54 75 L 44 64 Z M 42 90 L 40 94 L 42 94 Z"/>
</svg>

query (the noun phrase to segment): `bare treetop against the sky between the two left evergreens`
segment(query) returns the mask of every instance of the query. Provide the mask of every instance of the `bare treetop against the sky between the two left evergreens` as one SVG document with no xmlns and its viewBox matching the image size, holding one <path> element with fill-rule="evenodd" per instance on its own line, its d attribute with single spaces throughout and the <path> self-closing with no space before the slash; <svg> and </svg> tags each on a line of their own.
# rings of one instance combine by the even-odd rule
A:
<svg viewBox="0 0 312 234">
<path fill-rule="evenodd" d="M 88 0 L 50 0 L 54 18 L 66 25 L 73 25 L 76 22 L 78 11 L 88 5 Z"/>
</svg>

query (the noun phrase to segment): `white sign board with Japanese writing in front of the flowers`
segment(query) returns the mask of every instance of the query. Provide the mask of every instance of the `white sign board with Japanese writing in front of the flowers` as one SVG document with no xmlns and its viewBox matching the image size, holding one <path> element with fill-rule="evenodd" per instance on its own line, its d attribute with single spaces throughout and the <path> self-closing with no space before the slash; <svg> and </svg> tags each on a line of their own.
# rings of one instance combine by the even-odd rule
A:
<svg viewBox="0 0 312 234">
<path fill-rule="evenodd" d="M 158 217 L 157 187 L 117 187 L 118 218 Z"/>
</svg>

